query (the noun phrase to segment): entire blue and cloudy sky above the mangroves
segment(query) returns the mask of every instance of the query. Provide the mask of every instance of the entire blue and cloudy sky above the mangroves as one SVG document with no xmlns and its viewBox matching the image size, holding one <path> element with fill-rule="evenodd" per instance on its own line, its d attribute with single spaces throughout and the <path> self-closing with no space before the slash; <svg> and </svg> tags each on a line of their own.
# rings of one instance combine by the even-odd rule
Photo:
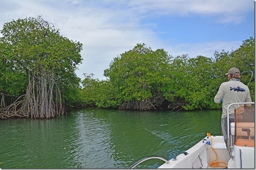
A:
<svg viewBox="0 0 256 170">
<path fill-rule="evenodd" d="M 114 57 L 145 43 L 169 55 L 214 57 L 254 38 L 254 0 L 0 0 L 0 30 L 37 17 L 83 44 L 76 74 L 107 79 Z M 1 36 L 1 34 L 0 34 Z"/>
</svg>

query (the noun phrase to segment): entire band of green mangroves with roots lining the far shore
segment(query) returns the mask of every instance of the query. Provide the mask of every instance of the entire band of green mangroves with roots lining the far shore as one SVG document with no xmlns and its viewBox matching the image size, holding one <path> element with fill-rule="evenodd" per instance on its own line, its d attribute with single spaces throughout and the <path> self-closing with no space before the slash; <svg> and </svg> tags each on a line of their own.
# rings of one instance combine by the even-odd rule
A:
<svg viewBox="0 0 256 170">
<path fill-rule="evenodd" d="M 241 81 L 248 84 L 254 100 L 254 76 L 246 72 L 255 71 L 253 37 L 231 52 L 215 51 L 214 58 L 173 57 L 164 49 L 153 51 L 137 44 L 112 60 L 104 70 L 107 80 L 87 73 L 81 80 L 75 70 L 83 60 L 83 45 L 61 36 L 41 16 L 5 23 L 1 34 L 0 119 L 49 119 L 91 106 L 140 111 L 220 109 L 213 98 L 231 67 L 244 72 Z"/>
</svg>

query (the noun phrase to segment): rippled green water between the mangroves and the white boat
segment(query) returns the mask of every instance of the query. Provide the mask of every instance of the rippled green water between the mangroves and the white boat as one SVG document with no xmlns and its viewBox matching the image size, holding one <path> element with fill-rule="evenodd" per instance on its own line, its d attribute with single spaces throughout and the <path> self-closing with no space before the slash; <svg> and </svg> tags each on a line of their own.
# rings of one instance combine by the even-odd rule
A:
<svg viewBox="0 0 256 170">
<path fill-rule="evenodd" d="M 221 135 L 221 111 L 87 108 L 49 120 L 0 120 L 0 168 L 128 168 L 148 156 L 169 160 L 207 132 Z"/>
</svg>

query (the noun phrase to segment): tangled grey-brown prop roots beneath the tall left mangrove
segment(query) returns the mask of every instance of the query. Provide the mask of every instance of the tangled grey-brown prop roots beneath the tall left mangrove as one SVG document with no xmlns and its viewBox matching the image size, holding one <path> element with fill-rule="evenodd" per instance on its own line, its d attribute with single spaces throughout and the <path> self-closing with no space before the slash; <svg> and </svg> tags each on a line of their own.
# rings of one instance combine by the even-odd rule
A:
<svg viewBox="0 0 256 170">
<path fill-rule="evenodd" d="M 4 106 L 4 101 L 1 102 L 0 119 L 10 117 L 48 119 L 63 115 L 65 110 L 58 84 L 60 83 L 56 83 L 53 72 L 49 73 L 39 69 L 35 74 L 30 71 L 26 94 L 19 96 L 7 107 Z"/>
</svg>

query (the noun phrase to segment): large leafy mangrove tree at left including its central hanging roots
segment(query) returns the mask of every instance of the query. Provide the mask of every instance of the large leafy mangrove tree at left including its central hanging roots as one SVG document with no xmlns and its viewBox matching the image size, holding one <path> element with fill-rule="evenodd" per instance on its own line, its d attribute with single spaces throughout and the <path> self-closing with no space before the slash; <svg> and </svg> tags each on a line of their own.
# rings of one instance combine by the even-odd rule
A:
<svg viewBox="0 0 256 170">
<path fill-rule="evenodd" d="M 40 16 L 5 23 L 1 33 L 0 92 L 26 94 L 31 105 L 27 109 L 52 107 L 50 115 L 42 111 L 42 118 L 54 116 L 52 112 L 59 114 L 60 108 L 56 107 L 62 105 L 54 104 L 57 100 L 59 104 L 66 100 L 66 104 L 72 105 L 70 98 L 79 89 L 80 79 L 74 71 L 82 60 L 82 44 L 61 36 L 52 23 Z M 26 116 L 31 114 L 27 112 Z"/>
</svg>

